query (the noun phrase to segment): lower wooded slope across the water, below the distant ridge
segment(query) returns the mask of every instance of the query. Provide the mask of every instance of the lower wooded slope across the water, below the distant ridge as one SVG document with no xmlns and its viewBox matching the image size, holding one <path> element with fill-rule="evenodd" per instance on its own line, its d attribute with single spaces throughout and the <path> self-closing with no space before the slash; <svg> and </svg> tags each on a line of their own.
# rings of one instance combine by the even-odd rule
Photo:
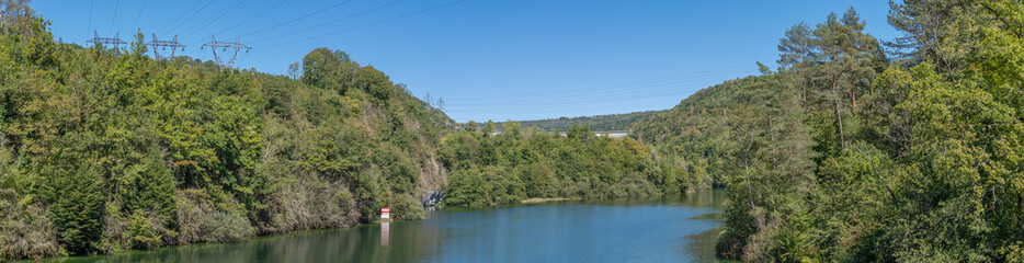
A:
<svg viewBox="0 0 1024 263">
<path fill-rule="evenodd" d="M 467 127 L 479 125 L 470 122 Z M 445 203 L 488 206 L 528 197 L 588 199 L 651 197 L 689 191 L 693 178 L 673 159 L 651 155 L 633 138 L 595 136 L 587 125 L 566 135 L 488 122 L 482 130 L 459 130 L 444 138 L 444 160 L 453 171 Z"/>
</svg>

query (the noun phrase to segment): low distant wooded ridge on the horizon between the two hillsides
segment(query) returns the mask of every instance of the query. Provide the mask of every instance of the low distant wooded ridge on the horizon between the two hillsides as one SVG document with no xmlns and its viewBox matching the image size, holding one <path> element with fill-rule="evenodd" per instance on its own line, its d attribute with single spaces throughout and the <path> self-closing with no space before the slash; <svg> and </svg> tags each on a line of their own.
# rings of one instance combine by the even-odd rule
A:
<svg viewBox="0 0 1024 263">
<path fill-rule="evenodd" d="M 634 112 L 611 115 L 582 116 L 582 117 L 560 117 L 549 119 L 516 121 L 523 127 L 537 126 L 544 130 L 568 130 L 573 124 L 590 124 L 590 129 L 594 132 L 606 130 L 629 130 L 633 124 L 650 117 L 663 111 Z M 499 123 L 498 129 L 501 129 Z"/>
</svg>

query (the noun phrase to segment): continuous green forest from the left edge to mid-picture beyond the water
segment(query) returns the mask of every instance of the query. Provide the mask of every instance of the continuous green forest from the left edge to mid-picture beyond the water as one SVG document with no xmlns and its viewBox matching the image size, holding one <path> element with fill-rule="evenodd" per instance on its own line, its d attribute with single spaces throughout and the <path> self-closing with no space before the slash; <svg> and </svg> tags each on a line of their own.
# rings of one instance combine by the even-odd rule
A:
<svg viewBox="0 0 1024 263">
<path fill-rule="evenodd" d="M 585 126 L 456 130 L 343 52 L 317 48 L 291 77 L 153 59 L 140 33 L 126 49 L 62 44 L 27 1 L 0 3 L 0 259 L 348 227 L 384 206 L 417 219 L 439 190 L 488 206 L 689 185 Z"/>
</svg>

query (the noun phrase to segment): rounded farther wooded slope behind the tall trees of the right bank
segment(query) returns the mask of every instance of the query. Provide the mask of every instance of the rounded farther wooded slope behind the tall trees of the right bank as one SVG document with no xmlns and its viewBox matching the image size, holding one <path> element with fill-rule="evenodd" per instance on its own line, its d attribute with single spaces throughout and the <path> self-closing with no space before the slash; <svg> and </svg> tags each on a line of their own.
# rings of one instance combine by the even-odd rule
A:
<svg viewBox="0 0 1024 263">
<path fill-rule="evenodd" d="M 773 140 L 790 145 L 773 151 L 798 152 L 809 147 L 806 128 L 787 127 L 800 125 L 804 111 L 796 93 L 799 91 L 784 84 L 783 78 L 747 77 L 697 91 L 675 107 L 637 122 L 633 136 L 653 145 L 663 157 L 679 159 L 681 168 L 695 178 L 695 187 L 727 184 L 726 175 L 742 172 L 743 167 L 737 167 L 736 160 L 742 159 L 746 152 L 740 149 L 747 148 L 753 136 L 749 128 L 732 127 L 772 122 L 776 132 L 796 129 L 775 134 Z M 759 106 L 760 103 L 772 106 Z M 794 159 L 785 165 L 763 169 L 801 172 L 807 171 L 808 163 Z"/>
</svg>

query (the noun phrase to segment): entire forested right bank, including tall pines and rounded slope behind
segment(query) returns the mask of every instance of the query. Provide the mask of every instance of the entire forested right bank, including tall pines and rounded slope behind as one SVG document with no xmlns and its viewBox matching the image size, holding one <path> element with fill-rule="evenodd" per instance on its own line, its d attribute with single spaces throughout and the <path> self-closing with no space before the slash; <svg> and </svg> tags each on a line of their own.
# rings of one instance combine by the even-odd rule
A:
<svg viewBox="0 0 1024 263">
<path fill-rule="evenodd" d="M 727 187 L 720 255 L 1024 261 L 1024 5 L 904 1 L 889 24 L 904 36 L 879 43 L 852 9 L 794 25 L 777 72 L 636 124 Z"/>
</svg>

